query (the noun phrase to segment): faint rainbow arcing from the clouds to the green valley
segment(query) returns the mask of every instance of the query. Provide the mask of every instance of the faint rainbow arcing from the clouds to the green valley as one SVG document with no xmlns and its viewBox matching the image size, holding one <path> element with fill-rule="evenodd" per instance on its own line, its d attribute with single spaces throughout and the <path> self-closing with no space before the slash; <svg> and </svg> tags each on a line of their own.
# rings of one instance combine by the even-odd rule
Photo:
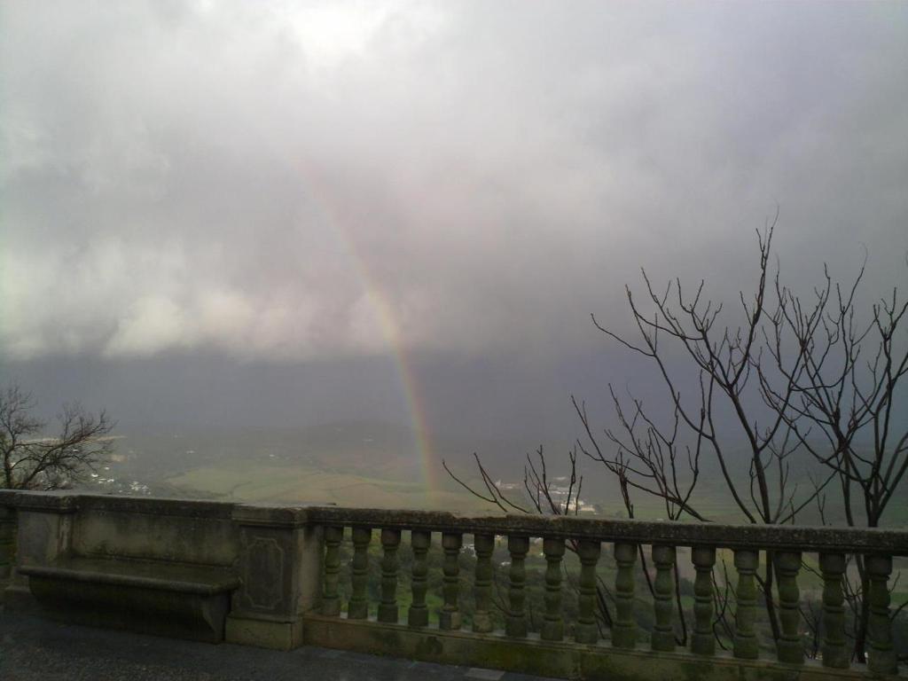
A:
<svg viewBox="0 0 908 681">
<path fill-rule="evenodd" d="M 440 489 L 436 472 L 438 467 L 435 465 L 429 421 L 423 408 L 424 401 L 419 390 L 419 381 L 413 371 L 406 343 L 401 338 L 398 314 L 372 275 L 369 262 L 360 253 L 360 248 L 345 225 L 342 211 L 337 210 L 331 202 L 331 191 L 323 187 L 324 183 L 321 181 L 319 173 L 300 162 L 294 163 L 294 165 L 298 173 L 306 179 L 306 186 L 312 192 L 312 199 L 321 219 L 331 228 L 343 250 L 350 256 L 362 283 L 364 294 L 378 318 L 384 340 L 393 354 L 397 376 L 400 380 L 400 390 L 410 415 L 413 445 L 419 455 L 422 479 L 426 486 L 428 499 L 432 492 Z"/>
</svg>

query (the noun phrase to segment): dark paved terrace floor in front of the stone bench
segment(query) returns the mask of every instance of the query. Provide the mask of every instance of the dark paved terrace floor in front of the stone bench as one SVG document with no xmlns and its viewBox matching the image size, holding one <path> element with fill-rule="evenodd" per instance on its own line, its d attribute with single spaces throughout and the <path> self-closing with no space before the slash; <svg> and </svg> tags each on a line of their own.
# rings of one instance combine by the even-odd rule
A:
<svg viewBox="0 0 908 681">
<path fill-rule="evenodd" d="M 77 627 L 0 609 L 2 681 L 548 681 L 303 646 L 288 653 Z"/>
</svg>

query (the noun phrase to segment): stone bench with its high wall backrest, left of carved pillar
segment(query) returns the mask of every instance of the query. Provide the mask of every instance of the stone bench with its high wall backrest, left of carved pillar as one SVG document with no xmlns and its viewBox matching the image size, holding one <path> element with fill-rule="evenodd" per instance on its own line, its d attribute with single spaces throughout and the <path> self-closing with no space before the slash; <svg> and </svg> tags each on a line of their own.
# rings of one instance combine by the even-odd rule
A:
<svg viewBox="0 0 908 681">
<path fill-rule="evenodd" d="M 232 504 L 0 490 L 18 542 L 5 607 L 220 643 L 240 587 Z"/>
</svg>

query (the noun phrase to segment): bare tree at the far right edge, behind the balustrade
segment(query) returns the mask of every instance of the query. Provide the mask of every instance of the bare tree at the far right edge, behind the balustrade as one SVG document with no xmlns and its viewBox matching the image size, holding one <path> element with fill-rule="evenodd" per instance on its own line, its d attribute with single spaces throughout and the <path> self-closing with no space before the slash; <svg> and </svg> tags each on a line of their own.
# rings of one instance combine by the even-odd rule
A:
<svg viewBox="0 0 908 681">
<path fill-rule="evenodd" d="M 784 415 L 801 446 L 837 479 L 845 523 L 876 528 L 908 470 L 908 425 L 900 419 L 908 408 L 900 392 L 908 375 L 908 342 L 900 333 L 908 301 L 900 302 L 893 289 L 862 321 L 856 300 L 865 267 L 866 261 L 845 289 L 824 270 L 824 286 L 808 302 L 776 279 L 780 302 L 765 342 L 773 361 L 758 369 L 767 405 Z M 785 333 L 794 342 L 785 343 Z M 807 357 L 796 379 L 786 353 L 792 345 L 805 348 Z M 785 409 L 768 370 L 795 381 L 795 400 Z M 855 657 L 864 662 L 868 579 L 863 558 L 854 562 L 859 583 L 848 585 L 846 594 L 855 613 Z"/>
</svg>

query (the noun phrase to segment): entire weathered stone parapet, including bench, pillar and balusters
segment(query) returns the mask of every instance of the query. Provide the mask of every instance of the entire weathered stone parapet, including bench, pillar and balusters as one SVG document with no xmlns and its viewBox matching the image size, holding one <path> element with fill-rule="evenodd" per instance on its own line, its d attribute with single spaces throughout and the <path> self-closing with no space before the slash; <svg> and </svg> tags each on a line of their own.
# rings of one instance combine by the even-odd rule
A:
<svg viewBox="0 0 908 681">
<path fill-rule="evenodd" d="M 908 530 L 741 527 L 574 517 L 468 517 L 444 512 L 234 505 L 8 490 L 0 491 L 0 550 L 8 535 L 3 529 L 4 520 L 14 515 L 19 529 L 17 565 L 22 569 L 13 570 L 18 581 L 6 593 L 25 603 L 30 584 L 31 592 L 46 611 L 66 621 L 133 627 L 130 617 L 141 617 L 143 630 L 167 636 L 220 640 L 226 627 L 228 640 L 253 646 L 288 649 L 300 646 L 305 639 L 454 664 L 609 679 L 744 681 L 864 675 L 857 666 L 822 669 L 809 660 L 795 666 L 764 659 L 754 636 L 752 618 L 756 606 L 754 572 L 759 551 L 767 549 L 781 557 L 779 593 L 785 615 L 785 643 L 790 648 L 790 654 L 780 649 L 783 661 L 801 662 L 800 656 L 795 656 L 795 647 L 800 648 L 795 617 L 799 603 L 798 552 L 820 552 L 827 557 L 823 568 L 828 591 L 824 593 L 824 605 L 830 621 L 835 618 L 836 608 L 841 607 L 841 594 L 836 591 L 837 585 L 841 590 L 841 566 L 828 565 L 828 556 L 862 553 L 868 557 L 873 581 L 872 667 L 889 672 L 895 668 L 895 658 L 891 632 L 886 627 L 886 587 L 892 556 L 908 555 Z M 339 602 L 328 608 L 331 617 L 322 617 L 315 614 L 322 596 L 322 533 L 325 528 L 332 528 L 339 537 L 344 527 L 353 528 L 357 545 L 352 566 L 353 617 L 339 617 Z M 377 574 L 370 567 L 367 551 L 370 528 L 384 529 L 382 618 L 388 621 L 381 624 L 369 617 L 366 586 L 370 570 L 373 576 Z M 396 552 L 400 531 L 404 529 L 411 530 L 414 549 L 410 627 L 396 624 Z M 424 603 L 428 568 L 425 548 L 433 531 L 440 533 L 446 552 L 443 572 L 447 610 L 442 612 L 439 627 L 428 626 Z M 474 587 L 479 618 L 474 620 L 474 632 L 460 630 L 459 621 L 459 548 L 464 533 L 478 536 L 476 553 L 481 569 Z M 508 537 L 511 558 L 505 620 L 508 637 L 487 632 L 490 618 L 483 617 L 488 612 L 488 568 L 496 536 Z M 529 538 L 537 537 L 544 539 L 542 548 L 548 561 L 543 623 L 548 641 L 527 633 L 524 559 Z M 582 549 L 580 559 L 585 570 L 578 595 L 582 617 L 574 629 L 577 641 L 582 643 L 560 640 L 571 634 L 560 620 L 559 564 L 568 538 L 572 546 Z M 600 542 L 615 545 L 619 568 L 617 619 L 610 644 L 596 643 L 595 619 L 590 617 Z M 656 652 L 633 649 L 636 632 L 632 573 L 639 546 L 655 547 L 658 636 L 651 640 Z M 674 549 L 685 546 L 694 547 L 692 558 L 697 572 L 693 648 L 701 654 L 698 656 L 670 650 L 675 607 L 670 598 Z M 735 550 L 739 577 L 736 658 L 725 653 L 713 656 L 715 646 L 706 646 L 712 612 L 711 603 L 706 601 L 711 597 L 710 572 L 716 562 L 716 548 Z M 332 564 L 329 574 L 336 577 L 338 567 Z M 337 598 L 337 585 L 325 586 L 328 600 Z M 228 594 L 232 590 L 230 600 Z M 232 612 L 224 624 L 231 606 Z M 442 630 L 446 627 L 454 630 Z M 703 638 L 704 646 L 697 645 L 697 637 Z M 830 650 L 841 646 L 834 637 L 825 645 Z"/>
</svg>

